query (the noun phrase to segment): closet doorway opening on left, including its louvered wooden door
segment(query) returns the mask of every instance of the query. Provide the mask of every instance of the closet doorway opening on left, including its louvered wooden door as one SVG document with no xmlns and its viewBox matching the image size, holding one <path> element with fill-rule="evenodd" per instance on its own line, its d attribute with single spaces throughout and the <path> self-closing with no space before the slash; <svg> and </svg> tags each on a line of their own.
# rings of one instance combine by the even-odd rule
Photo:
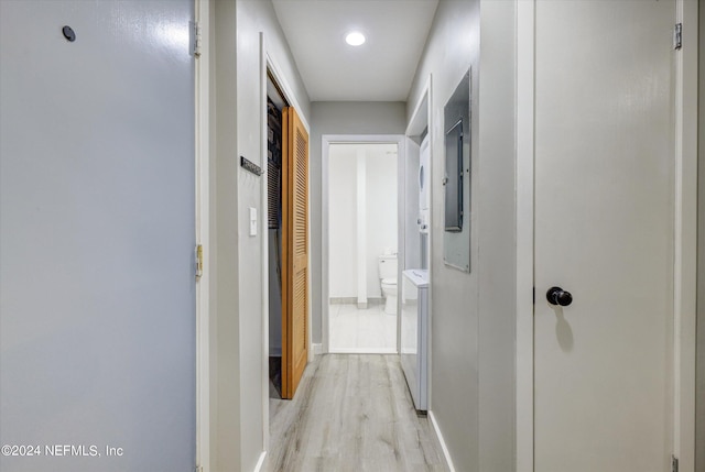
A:
<svg viewBox="0 0 705 472">
<path fill-rule="evenodd" d="M 293 398 L 308 361 L 308 133 L 269 74 L 270 397 Z"/>
</svg>

